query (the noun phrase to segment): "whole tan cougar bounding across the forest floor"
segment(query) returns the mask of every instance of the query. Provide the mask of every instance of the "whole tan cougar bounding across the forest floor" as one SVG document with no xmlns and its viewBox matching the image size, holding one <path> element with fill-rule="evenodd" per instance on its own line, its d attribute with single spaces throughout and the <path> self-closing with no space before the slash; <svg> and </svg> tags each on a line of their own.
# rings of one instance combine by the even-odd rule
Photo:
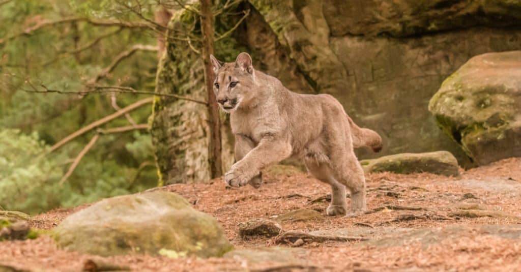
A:
<svg viewBox="0 0 521 272">
<path fill-rule="evenodd" d="M 302 158 L 309 172 L 332 189 L 328 215 L 346 214 L 345 188 L 351 213 L 366 209 L 364 171 L 353 147 L 381 149 L 380 136 L 359 128 L 342 105 L 328 94 L 297 94 L 253 69 L 247 53 L 221 65 L 212 56 L 219 105 L 230 113 L 237 162 L 225 175 L 229 186 L 261 184 L 261 171 L 283 159 Z M 235 86 L 230 86 L 235 82 Z"/>
</svg>

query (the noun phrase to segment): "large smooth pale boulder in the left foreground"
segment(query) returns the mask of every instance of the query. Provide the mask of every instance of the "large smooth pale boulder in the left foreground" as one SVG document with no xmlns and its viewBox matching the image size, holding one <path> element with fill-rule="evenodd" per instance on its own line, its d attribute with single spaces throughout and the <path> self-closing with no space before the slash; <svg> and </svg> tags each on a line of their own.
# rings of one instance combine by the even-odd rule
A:
<svg viewBox="0 0 521 272">
<path fill-rule="evenodd" d="M 176 252 L 211 257 L 232 249 L 215 218 L 165 191 L 100 201 L 68 216 L 54 237 L 67 250 L 102 256 Z"/>
</svg>

